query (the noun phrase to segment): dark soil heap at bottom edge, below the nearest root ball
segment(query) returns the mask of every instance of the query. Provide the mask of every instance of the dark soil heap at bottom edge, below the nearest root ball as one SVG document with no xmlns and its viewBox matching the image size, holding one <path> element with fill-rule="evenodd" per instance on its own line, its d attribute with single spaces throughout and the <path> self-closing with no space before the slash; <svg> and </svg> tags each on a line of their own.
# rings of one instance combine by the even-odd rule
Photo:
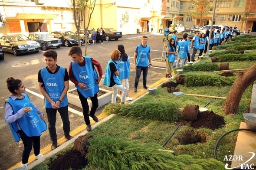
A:
<svg viewBox="0 0 256 170">
<path fill-rule="evenodd" d="M 60 155 L 54 160 L 51 163 L 49 170 L 81 170 L 87 164 L 87 160 L 79 151 L 69 150 L 66 154 Z"/>
</svg>

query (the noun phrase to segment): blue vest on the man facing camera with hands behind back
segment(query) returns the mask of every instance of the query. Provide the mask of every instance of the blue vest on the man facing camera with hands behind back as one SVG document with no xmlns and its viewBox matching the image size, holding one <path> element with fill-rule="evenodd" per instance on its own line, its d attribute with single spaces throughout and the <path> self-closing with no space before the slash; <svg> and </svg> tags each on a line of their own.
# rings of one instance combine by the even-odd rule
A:
<svg viewBox="0 0 256 170">
<path fill-rule="evenodd" d="M 136 66 L 148 67 L 148 54 L 150 52 L 150 46 L 146 45 L 146 47 L 143 47 L 142 45 L 138 45 L 137 52 L 138 55 L 136 59 Z"/>
</svg>

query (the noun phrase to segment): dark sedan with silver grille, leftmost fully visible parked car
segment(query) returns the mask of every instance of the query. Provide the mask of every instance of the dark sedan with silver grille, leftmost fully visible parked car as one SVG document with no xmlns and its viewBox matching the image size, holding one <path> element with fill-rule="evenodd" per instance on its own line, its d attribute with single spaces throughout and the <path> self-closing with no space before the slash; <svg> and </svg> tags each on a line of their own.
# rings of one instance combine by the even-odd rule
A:
<svg viewBox="0 0 256 170">
<path fill-rule="evenodd" d="M 39 52 L 40 44 L 28 39 L 23 34 L 7 35 L 0 38 L 4 52 L 12 52 L 14 56 L 28 52 Z"/>
</svg>

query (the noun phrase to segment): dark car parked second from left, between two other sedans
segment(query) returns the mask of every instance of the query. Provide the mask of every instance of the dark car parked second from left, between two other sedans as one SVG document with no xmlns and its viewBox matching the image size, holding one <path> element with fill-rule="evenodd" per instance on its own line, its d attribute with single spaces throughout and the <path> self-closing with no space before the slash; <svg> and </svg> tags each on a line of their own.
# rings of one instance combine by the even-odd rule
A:
<svg viewBox="0 0 256 170">
<path fill-rule="evenodd" d="M 43 50 L 47 50 L 49 47 L 60 48 L 62 45 L 61 39 L 54 38 L 48 32 L 35 32 L 29 34 L 29 39 L 33 39 L 36 42 L 39 42 Z"/>
</svg>

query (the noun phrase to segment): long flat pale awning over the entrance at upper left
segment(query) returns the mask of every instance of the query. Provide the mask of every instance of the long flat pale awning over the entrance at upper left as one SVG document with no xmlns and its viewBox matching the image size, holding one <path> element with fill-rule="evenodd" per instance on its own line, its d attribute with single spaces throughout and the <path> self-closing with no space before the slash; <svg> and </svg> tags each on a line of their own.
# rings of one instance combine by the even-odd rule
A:
<svg viewBox="0 0 256 170">
<path fill-rule="evenodd" d="M 58 16 L 57 13 L 17 13 L 15 17 L 6 17 L 6 19 L 55 19 Z"/>
</svg>

